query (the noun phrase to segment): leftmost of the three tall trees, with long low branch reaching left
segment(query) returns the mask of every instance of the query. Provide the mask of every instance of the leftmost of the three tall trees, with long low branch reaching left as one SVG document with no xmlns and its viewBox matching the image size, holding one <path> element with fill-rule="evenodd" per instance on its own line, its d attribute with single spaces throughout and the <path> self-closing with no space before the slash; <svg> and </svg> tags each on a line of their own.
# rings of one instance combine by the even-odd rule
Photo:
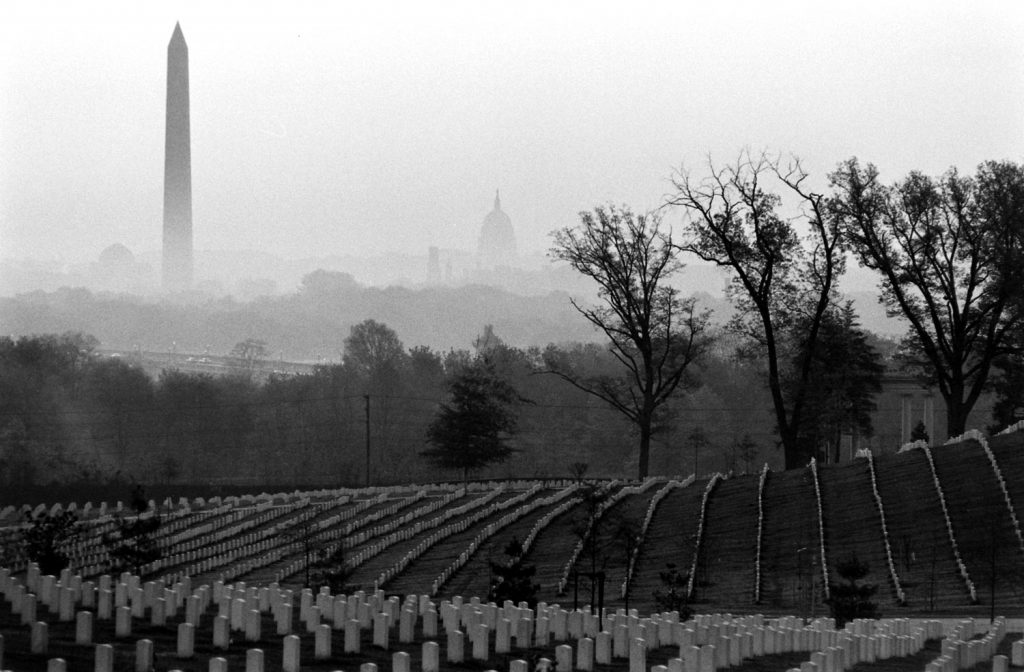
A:
<svg viewBox="0 0 1024 672">
<path fill-rule="evenodd" d="M 608 339 L 625 369 L 618 376 L 586 376 L 564 358 L 545 353 L 549 372 L 597 396 L 626 416 L 640 434 L 637 476 L 647 476 L 655 415 L 688 382 L 689 366 L 708 344 L 708 313 L 669 283 L 682 264 L 657 214 L 627 207 L 581 212 L 580 224 L 554 234 L 551 256 L 597 283 L 601 304 L 572 306 Z"/>
</svg>

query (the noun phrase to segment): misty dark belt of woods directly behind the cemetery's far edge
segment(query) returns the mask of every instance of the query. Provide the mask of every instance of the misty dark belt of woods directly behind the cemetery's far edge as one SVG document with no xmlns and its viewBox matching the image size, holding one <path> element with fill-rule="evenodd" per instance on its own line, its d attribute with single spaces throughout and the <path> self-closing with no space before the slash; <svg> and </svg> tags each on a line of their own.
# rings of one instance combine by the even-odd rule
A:
<svg viewBox="0 0 1024 672">
<path fill-rule="evenodd" d="M 520 349 L 484 329 L 470 348 L 439 352 L 407 347 L 373 321 L 339 341 L 343 364 L 261 379 L 245 369 L 151 377 L 130 356 L 99 355 L 95 339 L 75 333 L 2 337 L 3 499 L 16 502 L 25 488 L 53 481 L 116 480 L 116 492 L 131 481 L 358 486 L 367 480 L 368 426 L 374 484 L 459 478 L 464 468 L 482 477 L 564 477 L 572 463 L 589 464 L 595 476 L 636 471 L 630 422 L 544 373 L 547 363 L 561 362 L 612 375 L 617 361 L 599 345 Z M 753 370 L 712 351 L 695 371 L 708 382 L 664 407 L 650 471 L 689 473 L 694 457 L 702 471 L 777 459 Z M 505 390 L 513 402 L 500 394 L 508 417 L 481 432 L 505 442 L 511 459 L 494 465 L 495 445 L 486 442 L 478 445 L 487 458 L 479 462 L 466 462 L 465 453 L 457 464 L 423 455 L 436 448 L 429 430 L 446 417 L 443 409 L 477 408 L 480 389 Z M 697 425 L 707 439 L 698 456 L 687 438 Z M 745 458 L 740 445 L 749 447 Z"/>
</svg>

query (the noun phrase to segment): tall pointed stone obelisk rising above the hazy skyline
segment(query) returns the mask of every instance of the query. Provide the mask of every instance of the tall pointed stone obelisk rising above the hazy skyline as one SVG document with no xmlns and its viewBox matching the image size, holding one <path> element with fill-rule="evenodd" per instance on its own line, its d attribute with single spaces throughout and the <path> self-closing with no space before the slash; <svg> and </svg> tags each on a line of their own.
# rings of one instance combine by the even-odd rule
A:
<svg viewBox="0 0 1024 672">
<path fill-rule="evenodd" d="M 188 130 L 188 45 L 181 26 L 167 45 L 167 126 L 164 145 L 164 289 L 193 282 L 191 149 Z"/>
</svg>

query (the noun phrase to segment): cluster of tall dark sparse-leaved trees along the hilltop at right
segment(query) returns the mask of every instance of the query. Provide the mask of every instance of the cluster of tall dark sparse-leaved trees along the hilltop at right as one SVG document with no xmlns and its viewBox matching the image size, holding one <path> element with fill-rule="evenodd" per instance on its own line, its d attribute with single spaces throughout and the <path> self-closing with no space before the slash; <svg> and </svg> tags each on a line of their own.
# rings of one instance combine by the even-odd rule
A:
<svg viewBox="0 0 1024 672">
<path fill-rule="evenodd" d="M 1020 376 L 1024 168 L 986 162 L 970 177 L 912 172 L 887 185 L 850 159 L 828 176 L 828 195 L 809 183 L 798 160 L 743 153 L 732 165 L 709 162 L 703 176 L 674 177 L 665 207 L 682 211 L 681 236 L 662 227 L 659 212 L 615 207 L 581 213 L 555 234 L 553 256 L 598 285 L 597 307 L 573 305 L 604 333 L 623 372 L 551 368 L 635 424 L 638 475 L 647 474 L 660 407 L 708 349 L 707 317 L 671 284 L 684 254 L 730 276 L 736 311 L 726 331 L 737 355 L 762 369 L 786 468 L 844 431 L 870 431 L 883 367 L 839 292 L 848 254 L 878 272 L 880 300 L 909 324 L 902 362 L 939 390 L 948 435 L 965 430 L 994 380 L 1007 391 Z M 1005 395 L 996 420 L 1020 408 L 1011 395 L 1019 398 Z"/>
</svg>

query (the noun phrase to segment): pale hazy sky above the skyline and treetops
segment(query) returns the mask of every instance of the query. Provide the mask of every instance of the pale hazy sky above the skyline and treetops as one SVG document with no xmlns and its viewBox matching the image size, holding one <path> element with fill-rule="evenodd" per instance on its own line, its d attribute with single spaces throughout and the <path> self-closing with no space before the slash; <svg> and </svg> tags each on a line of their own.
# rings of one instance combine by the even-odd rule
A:
<svg viewBox="0 0 1024 672">
<path fill-rule="evenodd" d="M 327 3 L 324 3 L 325 5 Z M 160 247 L 167 42 L 198 249 L 425 253 L 501 188 L 519 245 L 744 145 L 821 180 L 1024 160 L 1019 2 L 17 2 L 0 22 L 0 257 Z M 475 243 L 475 241 L 474 241 Z"/>
</svg>

